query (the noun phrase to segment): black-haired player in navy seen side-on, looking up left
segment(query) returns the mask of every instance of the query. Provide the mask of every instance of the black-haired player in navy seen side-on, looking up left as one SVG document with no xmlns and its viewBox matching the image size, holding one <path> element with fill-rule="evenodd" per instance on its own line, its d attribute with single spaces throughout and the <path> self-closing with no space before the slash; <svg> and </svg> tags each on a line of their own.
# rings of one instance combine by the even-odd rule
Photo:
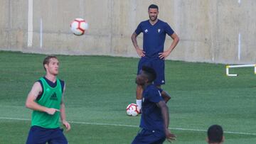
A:
<svg viewBox="0 0 256 144">
<path fill-rule="evenodd" d="M 142 118 L 141 131 L 132 144 L 164 143 L 164 140 L 175 140 L 176 136 L 169 131 L 169 111 L 159 89 L 152 84 L 156 72 L 151 67 L 142 67 L 137 75 L 136 83 L 142 86 Z"/>
</svg>

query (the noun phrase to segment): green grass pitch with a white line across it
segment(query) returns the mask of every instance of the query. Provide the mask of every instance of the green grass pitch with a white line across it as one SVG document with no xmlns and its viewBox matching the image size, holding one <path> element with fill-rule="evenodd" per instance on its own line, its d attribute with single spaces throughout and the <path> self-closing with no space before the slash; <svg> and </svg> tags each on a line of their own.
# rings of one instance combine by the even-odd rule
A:
<svg viewBox="0 0 256 144">
<path fill-rule="evenodd" d="M 46 55 L 0 51 L 0 143 L 25 143 L 31 110 L 25 101 L 33 82 L 45 74 Z M 65 104 L 72 129 L 70 144 L 131 143 L 139 131 L 140 116 L 126 115 L 135 102 L 137 58 L 66 56 L 60 60 L 59 78 L 66 82 Z M 166 61 L 170 128 L 174 143 L 206 143 L 206 130 L 220 124 L 225 143 L 256 143 L 256 83 L 252 67 L 231 69 L 239 77 L 225 76 L 225 65 Z M 168 143 L 168 142 L 166 142 Z"/>
</svg>

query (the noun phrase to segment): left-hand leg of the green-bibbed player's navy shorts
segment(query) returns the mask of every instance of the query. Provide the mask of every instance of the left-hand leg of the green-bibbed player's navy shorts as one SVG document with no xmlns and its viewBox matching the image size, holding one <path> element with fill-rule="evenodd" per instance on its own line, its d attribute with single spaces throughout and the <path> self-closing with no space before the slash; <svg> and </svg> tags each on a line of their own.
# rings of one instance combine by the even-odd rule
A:
<svg viewBox="0 0 256 144">
<path fill-rule="evenodd" d="M 48 141 L 48 135 L 50 135 L 50 133 L 48 133 L 46 128 L 32 126 L 28 133 L 26 144 L 45 144 Z"/>
</svg>

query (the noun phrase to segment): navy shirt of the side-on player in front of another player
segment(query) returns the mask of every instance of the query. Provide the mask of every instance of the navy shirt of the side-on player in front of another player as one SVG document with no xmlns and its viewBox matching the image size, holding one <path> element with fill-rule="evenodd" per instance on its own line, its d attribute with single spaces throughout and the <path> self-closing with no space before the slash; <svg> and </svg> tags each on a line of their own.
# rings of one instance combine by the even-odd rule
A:
<svg viewBox="0 0 256 144">
<path fill-rule="evenodd" d="M 159 89 L 154 84 L 149 85 L 142 93 L 142 118 L 140 127 L 149 131 L 164 131 L 164 119 L 161 109 L 156 106 L 164 101 Z"/>
</svg>

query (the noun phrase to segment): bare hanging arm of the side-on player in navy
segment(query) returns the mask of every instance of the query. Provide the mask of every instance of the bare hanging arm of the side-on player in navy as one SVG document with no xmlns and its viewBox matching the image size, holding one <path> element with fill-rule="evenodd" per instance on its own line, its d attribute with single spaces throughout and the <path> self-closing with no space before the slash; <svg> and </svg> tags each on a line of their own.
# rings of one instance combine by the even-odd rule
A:
<svg viewBox="0 0 256 144">
<path fill-rule="evenodd" d="M 169 130 L 169 110 L 168 107 L 166 106 L 165 101 L 159 101 L 157 104 L 159 108 L 161 109 L 161 113 L 164 119 L 164 129 L 166 133 L 166 139 L 171 142 L 171 140 L 176 140 L 176 135 L 172 134 L 171 131 Z"/>
</svg>

